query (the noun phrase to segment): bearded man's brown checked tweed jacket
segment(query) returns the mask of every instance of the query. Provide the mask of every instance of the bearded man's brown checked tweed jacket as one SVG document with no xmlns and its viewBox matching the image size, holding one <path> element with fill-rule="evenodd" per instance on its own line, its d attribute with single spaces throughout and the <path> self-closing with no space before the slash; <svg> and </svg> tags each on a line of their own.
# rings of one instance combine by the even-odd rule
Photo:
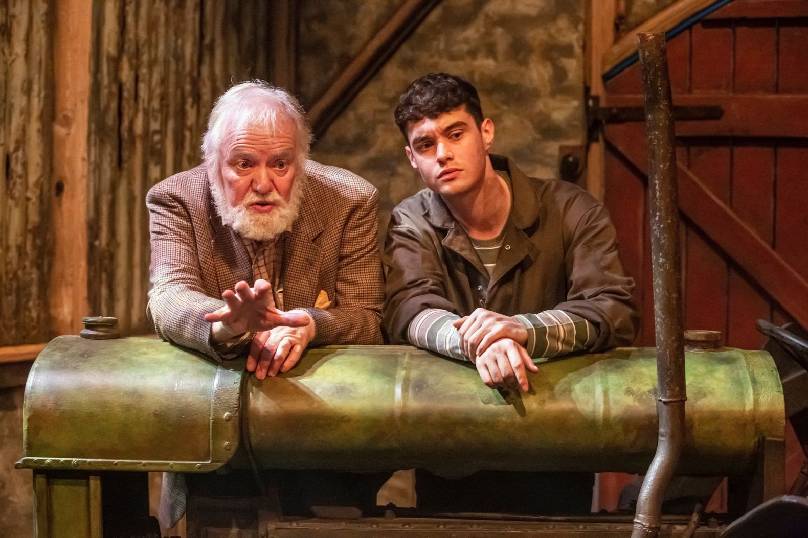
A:
<svg viewBox="0 0 808 538">
<path fill-rule="evenodd" d="M 378 191 L 356 174 L 309 161 L 300 214 L 286 239 L 284 308 L 314 319 L 309 346 L 380 344 L 384 281 L 377 245 Z M 204 165 L 164 179 L 146 195 L 151 235 L 149 318 L 160 338 L 215 359 L 211 323 L 221 293 L 254 284 L 241 237 L 221 222 Z M 314 308 L 320 292 L 330 306 Z"/>
</svg>

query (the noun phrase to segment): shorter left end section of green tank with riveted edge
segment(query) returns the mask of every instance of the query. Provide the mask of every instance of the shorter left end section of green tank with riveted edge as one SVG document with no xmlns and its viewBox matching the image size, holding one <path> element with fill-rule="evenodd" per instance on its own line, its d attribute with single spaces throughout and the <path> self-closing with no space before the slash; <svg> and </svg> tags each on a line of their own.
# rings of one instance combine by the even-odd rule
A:
<svg viewBox="0 0 808 538">
<path fill-rule="evenodd" d="M 28 376 L 20 465 L 217 469 L 238 448 L 241 376 L 154 338 L 55 338 Z"/>
</svg>

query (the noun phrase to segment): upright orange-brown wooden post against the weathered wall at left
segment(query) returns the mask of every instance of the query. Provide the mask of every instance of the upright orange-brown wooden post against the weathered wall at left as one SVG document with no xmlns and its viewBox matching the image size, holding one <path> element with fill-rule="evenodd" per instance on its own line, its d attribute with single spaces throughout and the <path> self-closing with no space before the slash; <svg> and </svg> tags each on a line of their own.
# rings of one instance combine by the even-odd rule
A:
<svg viewBox="0 0 808 538">
<path fill-rule="evenodd" d="M 75 334 L 87 314 L 87 122 L 92 2 L 61 0 L 53 42 L 53 334 Z"/>
</svg>

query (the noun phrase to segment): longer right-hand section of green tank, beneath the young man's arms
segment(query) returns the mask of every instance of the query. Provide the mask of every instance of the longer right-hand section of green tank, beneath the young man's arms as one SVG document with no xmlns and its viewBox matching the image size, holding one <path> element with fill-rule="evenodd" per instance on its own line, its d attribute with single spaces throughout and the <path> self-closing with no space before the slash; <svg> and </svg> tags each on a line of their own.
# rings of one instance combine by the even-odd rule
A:
<svg viewBox="0 0 808 538">
<path fill-rule="evenodd" d="M 757 439 L 782 435 L 779 378 L 763 353 L 711 353 L 688 353 L 680 469 L 750 469 Z M 267 468 L 637 473 L 657 443 L 655 374 L 654 349 L 617 349 L 543 364 L 516 395 L 412 347 L 326 347 L 283 376 L 247 377 L 246 426 Z"/>
</svg>

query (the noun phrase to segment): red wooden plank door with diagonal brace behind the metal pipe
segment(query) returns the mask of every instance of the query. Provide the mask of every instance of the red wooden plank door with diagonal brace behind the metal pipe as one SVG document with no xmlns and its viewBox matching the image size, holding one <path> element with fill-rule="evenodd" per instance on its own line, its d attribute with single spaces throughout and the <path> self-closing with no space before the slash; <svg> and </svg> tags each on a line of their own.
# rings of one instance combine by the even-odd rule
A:
<svg viewBox="0 0 808 538">
<path fill-rule="evenodd" d="M 723 109 L 676 125 L 685 328 L 760 349 L 759 318 L 808 327 L 808 0 L 730 2 L 667 52 L 674 103 Z M 606 82 L 604 100 L 642 107 L 638 65 Z M 608 123 L 605 139 L 605 204 L 642 305 L 636 345 L 653 346 L 645 126 Z M 789 435 L 787 485 L 802 464 Z M 622 483 L 603 477 L 602 506 Z"/>
</svg>

